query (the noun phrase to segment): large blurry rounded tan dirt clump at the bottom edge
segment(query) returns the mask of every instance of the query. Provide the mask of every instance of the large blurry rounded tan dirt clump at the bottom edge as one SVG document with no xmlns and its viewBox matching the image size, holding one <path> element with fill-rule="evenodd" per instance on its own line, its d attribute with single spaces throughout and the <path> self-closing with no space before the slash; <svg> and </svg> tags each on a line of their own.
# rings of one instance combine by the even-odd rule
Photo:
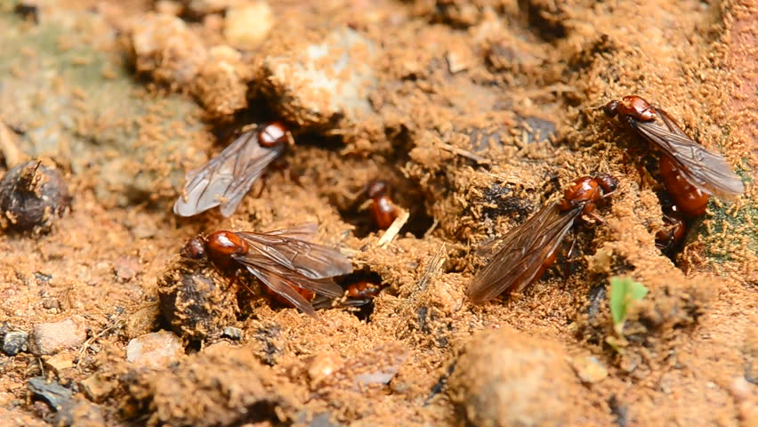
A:
<svg viewBox="0 0 758 427">
<path fill-rule="evenodd" d="M 472 338 L 450 376 L 450 398 L 481 426 L 560 425 L 577 388 L 559 345 L 509 328 Z"/>
</svg>

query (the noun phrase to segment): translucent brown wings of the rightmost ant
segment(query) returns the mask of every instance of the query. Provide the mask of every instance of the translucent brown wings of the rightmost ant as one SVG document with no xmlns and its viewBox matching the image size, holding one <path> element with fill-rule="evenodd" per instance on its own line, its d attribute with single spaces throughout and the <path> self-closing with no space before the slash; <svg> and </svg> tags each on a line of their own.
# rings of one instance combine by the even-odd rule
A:
<svg viewBox="0 0 758 427">
<path fill-rule="evenodd" d="M 664 110 L 656 111 L 662 123 L 631 119 L 629 124 L 670 157 L 690 184 L 728 201 L 745 191 L 745 185 L 720 154 L 692 141 Z"/>
</svg>

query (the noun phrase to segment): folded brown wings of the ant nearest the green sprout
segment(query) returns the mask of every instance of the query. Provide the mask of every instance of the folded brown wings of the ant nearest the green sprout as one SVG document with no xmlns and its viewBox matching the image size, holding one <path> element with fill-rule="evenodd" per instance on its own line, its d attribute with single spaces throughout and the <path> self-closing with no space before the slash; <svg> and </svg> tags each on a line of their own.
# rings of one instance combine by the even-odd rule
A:
<svg viewBox="0 0 758 427">
<path fill-rule="evenodd" d="M 466 294 L 472 302 L 488 302 L 509 289 L 520 291 L 555 252 L 582 209 L 560 212 L 558 205 L 545 205 L 520 226 L 510 230 L 497 245 L 500 250 L 473 278 Z"/>
</svg>

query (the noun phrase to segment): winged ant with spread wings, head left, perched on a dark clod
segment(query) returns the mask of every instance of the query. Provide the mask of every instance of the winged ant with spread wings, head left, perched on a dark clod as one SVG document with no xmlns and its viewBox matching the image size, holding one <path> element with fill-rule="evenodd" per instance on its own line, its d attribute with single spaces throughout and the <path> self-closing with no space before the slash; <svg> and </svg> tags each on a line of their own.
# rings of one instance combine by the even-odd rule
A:
<svg viewBox="0 0 758 427">
<path fill-rule="evenodd" d="M 221 230 L 190 239 L 183 254 L 206 257 L 232 282 L 247 270 L 278 301 L 316 318 L 310 300 L 315 294 L 341 297 L 343 289 L 332 278 L 351 273 L 352 264 L 340 251 L 311 243 L 315 232 L 315 224 L 265 233 Z"/>
</svg>

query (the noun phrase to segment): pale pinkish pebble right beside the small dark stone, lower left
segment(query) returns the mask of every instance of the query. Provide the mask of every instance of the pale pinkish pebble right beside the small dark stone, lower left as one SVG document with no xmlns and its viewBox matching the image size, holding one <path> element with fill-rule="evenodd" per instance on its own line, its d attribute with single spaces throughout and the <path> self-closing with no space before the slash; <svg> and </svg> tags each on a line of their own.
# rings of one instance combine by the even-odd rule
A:
<svg viewBox="0 0 758 427">
<path fill-rule="evenodd" d="M 36 356 L 55 354 L 82 345 L 87 339 L 83 318 L 65 318 L 60 322 L 34 326 L 29 336 L 29 350 Z"/>
</svg>

